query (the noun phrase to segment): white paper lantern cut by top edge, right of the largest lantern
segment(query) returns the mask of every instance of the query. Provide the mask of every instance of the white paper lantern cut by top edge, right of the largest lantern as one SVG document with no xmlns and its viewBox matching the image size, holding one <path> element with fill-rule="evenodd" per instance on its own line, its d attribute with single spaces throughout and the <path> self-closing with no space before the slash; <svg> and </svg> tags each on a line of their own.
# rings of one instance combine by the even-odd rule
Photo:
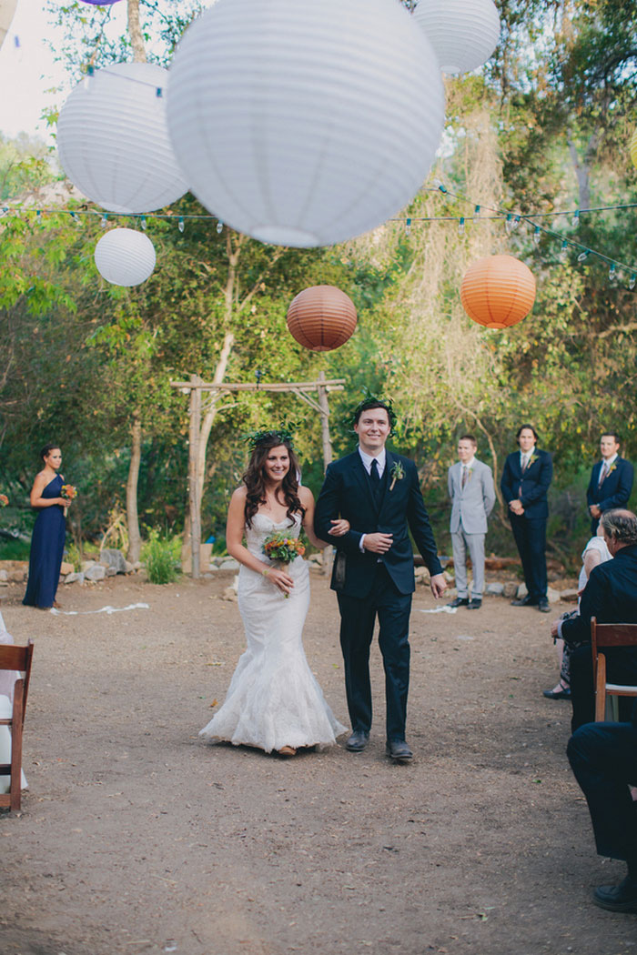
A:
<svg viewBox="0 0 637 955">
<path fill-rule="evenodd" d="M 444 73 L 468 73 L 498 46 L 493 0 L 418 0 L 414 20 L 426 33 Z"/>
</svg>

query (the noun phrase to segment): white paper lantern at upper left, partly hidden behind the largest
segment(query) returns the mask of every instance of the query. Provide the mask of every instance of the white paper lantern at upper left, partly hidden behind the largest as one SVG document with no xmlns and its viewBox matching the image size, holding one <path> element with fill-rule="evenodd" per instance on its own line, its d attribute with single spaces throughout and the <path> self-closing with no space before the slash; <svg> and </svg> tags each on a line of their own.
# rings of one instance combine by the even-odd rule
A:
<svg viewBox="0 0 637 955">
<path fill-rule="evenodd" d="M 117 63 L 78 83 L 62 107 L 64 172 L 104 209 L 152 212 L 187 191 L 166 126 L 167 79 L 153 63 Z"/>
</svg>

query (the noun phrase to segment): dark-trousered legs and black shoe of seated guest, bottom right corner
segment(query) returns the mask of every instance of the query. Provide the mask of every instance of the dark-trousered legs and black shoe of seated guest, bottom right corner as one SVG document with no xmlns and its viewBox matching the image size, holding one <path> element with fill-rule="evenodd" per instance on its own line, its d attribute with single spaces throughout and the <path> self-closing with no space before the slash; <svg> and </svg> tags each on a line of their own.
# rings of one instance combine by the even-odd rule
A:
<svg viewBox="0 0 637 955">
<path fill-rule="evenodd" d="M 637 913 L 637 812 L 628 790 L 637 784 L 637 707 L 630 723 L 588 723 L 566 749 L 588 803 L 597 852 L 624 859 L 619 885 L 600 885 L 593 902 L 611 912 Z"/>
</svg>

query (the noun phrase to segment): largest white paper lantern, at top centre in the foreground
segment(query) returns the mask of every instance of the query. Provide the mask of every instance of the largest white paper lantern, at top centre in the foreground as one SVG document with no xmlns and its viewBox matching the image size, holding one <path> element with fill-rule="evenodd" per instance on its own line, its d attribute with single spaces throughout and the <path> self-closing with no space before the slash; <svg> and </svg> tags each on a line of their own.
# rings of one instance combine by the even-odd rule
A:
<svg viewBox="0 0 637 955">
<path fill-rule="evenodd" d="M 397 0 L 218 0 L 170 68 L 192 191 L 263 242 L 329 245 L 414 198 L 444 121 L 435 53 Z"/>
</svg>

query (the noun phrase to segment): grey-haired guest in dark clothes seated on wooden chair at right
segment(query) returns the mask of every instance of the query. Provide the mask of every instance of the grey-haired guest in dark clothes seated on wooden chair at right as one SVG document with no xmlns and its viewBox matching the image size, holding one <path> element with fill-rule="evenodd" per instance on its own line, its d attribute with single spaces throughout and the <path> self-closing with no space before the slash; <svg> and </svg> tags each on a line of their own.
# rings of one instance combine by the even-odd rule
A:
<svg viewBox="0 0 637 955">
<path fill-rule="evenodd" d="M 580 644 L 571 655 L 571 701 L 575 732 L 595 719 L 590 621 L 600 624 L 637 624 L 637 517 L 631 511 L 605 511 L 602 530 L 614 560 L 593 567 L 584 587 L 580 614 L 556 621 L 551 635 L 566 644 Z M 609 683 L 637 686 L 637 647 L 605 650 Z M 626 699 L 620 700 L 620 715 Z M 629 701 L 628 701 L 629 705 Z"/>
</svg>

